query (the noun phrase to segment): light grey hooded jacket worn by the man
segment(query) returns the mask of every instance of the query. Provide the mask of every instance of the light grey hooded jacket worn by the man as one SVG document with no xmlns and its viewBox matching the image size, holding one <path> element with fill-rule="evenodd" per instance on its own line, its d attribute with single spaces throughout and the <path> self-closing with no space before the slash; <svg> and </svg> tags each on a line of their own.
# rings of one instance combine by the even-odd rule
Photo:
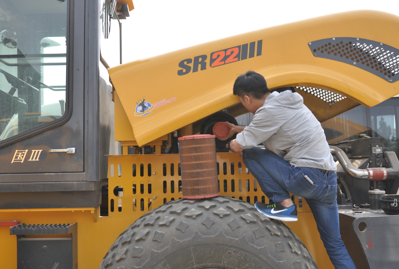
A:
<svg viewBox="0 0 399 269">
<path fill-rule="evenodd" d="M 337 170 L 320 122 L 290 90 L 267 96 L 237 143 L 243 149 L 263 143 L 294 166 Z"/>
</svg>

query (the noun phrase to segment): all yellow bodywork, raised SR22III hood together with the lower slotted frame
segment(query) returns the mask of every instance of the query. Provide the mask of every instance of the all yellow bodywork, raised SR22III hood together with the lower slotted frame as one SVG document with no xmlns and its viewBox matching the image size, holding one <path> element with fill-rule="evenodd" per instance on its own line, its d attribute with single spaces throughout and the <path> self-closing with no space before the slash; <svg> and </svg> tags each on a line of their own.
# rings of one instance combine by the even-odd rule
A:
<svg viewBox="0 0 399 269">
<path fill-rule="evenodd" d="M 308 43 L 346 36 L 375 40 L 399 48 L 399 35 L 393 34 L 392 29 L 399 29 L 399 18 L 392 14 L 377 11 L 345 12 L 261 29 L 113 67 L 109 69 L 109 74 L 115 86 L 115 140 L 121 141 L 123 147 L 123 155 L 109 156 L 109 209 L 112 207 L 111 199 L 114 199 L 114 211 L 109 210 L 108 217 L 100 217 L 99 208 L 2 209 L 0 216 L 2 220 L 18 220 L 27 224 L 77 222 L 79 268 L 98 268 L 103 255 L 132 222 L 148 210 L 163 204 L 164 199 L 170 201 L 181 197 L 178 188 L 179 156 L 160 154 L 162 145 L 170 139 L 170 133 L 179 130 L 179 136 L 195 134 L 199 132 L 204 117 L 225 108 L 233 116 L 247 112 L 238 103 L 237 96 L 232 94 L 233 82 L 238 74 L 253 69 L 266 78 L 271 89 L 310 86 L 346 96 L 344 100 L 330 105 L 298 90 L 304 97 L 304 104 L 320 122 L 324 122 L 360 104 L 374 106 L 398 94 L 399 82 L 389 83 L 358 67 L 314 57 Z M 195 73 L 178 75 L 181 69 L 178 65 L 184 59 L 208 55 L 209 61 L 212 51 L 259 40 L 263 40 L 262 57 L 216 68 L 208 66 Z M 151 104 L 157 102 L 164 105 L 146 116 L 135 116 L 135 104 L 144 96 Z M 158 154 L 127 155 L 128 147 L 144 145 L 155 147 Z M 244 201 L 249 197 L 251 203 L 255 196 L 261 200 L 264 194 L 260 188 L 255 191 L 253 187 L 256 181 L 250 173 L 245 173 L 243 163 L 242 173 L 238 173 L 238 163 L 242 160 L 237 154 L 218 153 L 217 161 L 221 195 L 242 197 Z M 172 163 L 173 176 L 169 171 Z M 223 163 L 227 165 L 226 175 L 223 173 Z M 231 163 L 234 163 L 234 175 Z M 143 176 L 140 175 L 141 164 Z M 148 164 L 151 164 L 150 175 Z M 163 175 L 164 164 L 166 176 Z M 133 165 L 136 165 L 135 177 Z M 231 188 L 233 179 L 234 191 Z M 247 179 L 249 189 L 246 188 Z M 170 191 L 172 181 L 174 193 Z M 151 193 L 148 193 L 149 183 Z M 136 184 L 135 194 L 133 184 Z M 117 186 L 123 188 L 122 196 L 113 194 Z M 136 199 L 136 208 L 133 199 Z M 140 210 L 141 199 L 144 201 L 143 211 Z M 265 201 L 268 201 L 267 198 Z M 298 204 L 298 197 L 295 197 L 295 203 Z M 319 268 L 332 269 L 305 200 L 302 200 L 302 207 L 298 208 L 298 219 L 298 222 L 289 224 L 290 228 L 305 243 Z M 16 237 L 10 236 L 9 227 L 0 227 L 0 242 L 0 268 L 16 268 Z"/>
</svg>

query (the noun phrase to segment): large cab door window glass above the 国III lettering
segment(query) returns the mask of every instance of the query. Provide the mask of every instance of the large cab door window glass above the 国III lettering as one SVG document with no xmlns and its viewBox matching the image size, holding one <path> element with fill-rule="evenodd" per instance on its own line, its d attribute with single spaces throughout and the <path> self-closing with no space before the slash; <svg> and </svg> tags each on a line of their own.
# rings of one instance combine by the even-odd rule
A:
<svg viewBox="0 0 399 269">
<path fill-rule="evenodd" d="M 0 2 L 0 143 L 66 113 L 67 4 Z"/>
</svg>

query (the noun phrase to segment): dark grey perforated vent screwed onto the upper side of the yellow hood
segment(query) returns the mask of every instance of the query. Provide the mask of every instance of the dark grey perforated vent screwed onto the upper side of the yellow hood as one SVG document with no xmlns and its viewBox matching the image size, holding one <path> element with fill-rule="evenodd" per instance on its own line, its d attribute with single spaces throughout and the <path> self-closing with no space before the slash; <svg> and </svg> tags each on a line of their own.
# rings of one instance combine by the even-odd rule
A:
<svg viewBox="0 0 399 269">
<path fill-rule="evenodd" d="M 313 56 L 354 65 L 388 82 L 399 80 L 399 49 L 362 38 L 335 37 L 308 43 Z"/>
</svg>

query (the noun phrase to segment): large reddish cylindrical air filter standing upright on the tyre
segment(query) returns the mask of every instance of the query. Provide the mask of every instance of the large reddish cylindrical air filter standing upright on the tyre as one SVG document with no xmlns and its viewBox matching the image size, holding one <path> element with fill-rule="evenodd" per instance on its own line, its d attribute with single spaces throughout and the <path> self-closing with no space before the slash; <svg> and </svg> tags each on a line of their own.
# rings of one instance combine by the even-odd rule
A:
<svg viewBox="0 0 399 269">
<path fill-rule="evenodd" d="M 179 145 L 183 198 L 218 196 L 215 135 L 179 137 Z"/>
</svg>

